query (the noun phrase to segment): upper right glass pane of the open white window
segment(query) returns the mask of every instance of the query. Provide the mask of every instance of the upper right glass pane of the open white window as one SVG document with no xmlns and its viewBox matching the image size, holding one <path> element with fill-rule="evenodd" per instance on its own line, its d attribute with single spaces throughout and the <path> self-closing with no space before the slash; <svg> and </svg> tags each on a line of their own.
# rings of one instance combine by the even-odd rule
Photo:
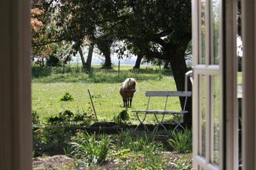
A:
<svg viewBox="0 0 256 170">
<path fill-rule="evenodd" d="M 220 58 L 220 3 L 212 0 L 212 50 L 211 64 L 219 64 Z"/>
</svg>

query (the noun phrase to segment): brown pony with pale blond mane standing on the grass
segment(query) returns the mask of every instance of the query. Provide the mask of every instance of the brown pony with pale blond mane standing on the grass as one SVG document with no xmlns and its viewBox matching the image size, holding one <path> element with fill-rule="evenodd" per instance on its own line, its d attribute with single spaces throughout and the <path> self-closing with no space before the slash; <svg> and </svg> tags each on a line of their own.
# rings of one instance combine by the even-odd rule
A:
<svg viewBox="0 0 256 170">
<path fill-rule="evenodd" d="M 132 106 L 133 101 L 133 94 L 135 93 L 136 89 L 136 80 L 134 78 L 127 78 L 124 82 L 121 83 L 120 86 L 120 94 L 123 98 L 123 107 Z"/>
</svg>

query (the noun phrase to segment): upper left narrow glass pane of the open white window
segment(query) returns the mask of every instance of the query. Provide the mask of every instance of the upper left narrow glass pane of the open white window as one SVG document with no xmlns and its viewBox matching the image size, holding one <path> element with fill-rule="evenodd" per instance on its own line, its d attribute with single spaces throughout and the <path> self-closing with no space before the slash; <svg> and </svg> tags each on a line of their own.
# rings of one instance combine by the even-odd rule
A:
<svg viewBox="0 0 256 170">
<path fill-rule="evenodd" d="M 201 0 L 201 58 L 200 64 L 205 64 L 205 0 Z"/>
</svg>

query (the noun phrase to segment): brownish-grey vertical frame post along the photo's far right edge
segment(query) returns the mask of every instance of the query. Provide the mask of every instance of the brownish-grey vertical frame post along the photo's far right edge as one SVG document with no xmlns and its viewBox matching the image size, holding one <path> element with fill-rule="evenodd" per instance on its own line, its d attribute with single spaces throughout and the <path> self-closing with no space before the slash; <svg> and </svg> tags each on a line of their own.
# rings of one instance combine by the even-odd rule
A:
<svg viewBox="0 0 256 170">
<path fill-rule="evenodd" d="M 242 168 L 256 169 L 256 60 L 255 0 L 242 1 L 243 101 L 242 101 Z"/>
</svg>

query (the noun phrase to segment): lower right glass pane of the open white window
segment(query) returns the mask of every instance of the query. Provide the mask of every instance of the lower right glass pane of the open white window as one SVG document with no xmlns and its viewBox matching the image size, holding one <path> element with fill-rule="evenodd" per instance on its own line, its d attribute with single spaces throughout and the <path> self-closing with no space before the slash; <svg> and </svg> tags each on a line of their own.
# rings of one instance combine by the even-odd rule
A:
<svg viewBox="0 0 256 170">
<path fill-rule="evenodd" d="M 213 100 L 213 133 L 214 133 L 214 146 L 213 146 L 213 163 L 219 165 L 220 155 L 220 79 L 218 76 L 211 77 L 212 81 L 212 100 Z"/>
</svg>

